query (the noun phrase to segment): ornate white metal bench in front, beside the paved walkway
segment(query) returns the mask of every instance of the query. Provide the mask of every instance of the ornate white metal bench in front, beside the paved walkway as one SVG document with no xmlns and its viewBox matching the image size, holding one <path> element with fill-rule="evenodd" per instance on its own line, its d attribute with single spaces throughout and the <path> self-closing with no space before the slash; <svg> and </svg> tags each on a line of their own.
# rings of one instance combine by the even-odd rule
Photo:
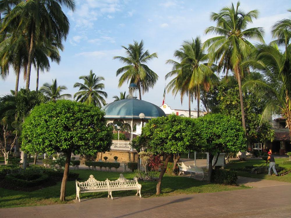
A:
<svg viewBox="0 0 291 218">
<path fill-rule="evenodd" d="M 80 193 L 84 192 L 108 192 L 112 197 L 112 191 L 121 191 L 121 190 L 136 190 L 136 196 L 139 194 L 141 198 L 141 184 L 138 183 L 137 178 L 134 177 L 133 180 L 128 180 L 124 178 L 123 174 L 120 174 L 119 178 L 114 181 L 110 181 L 108 178 L 105 181 L 98 181 L 94 178 L 93 175 L 90 175 L 89 179 L 85 182 L 78 182 L 76 180 L 76 200 L 79 198 L 80 202 Z"/>
</svg>

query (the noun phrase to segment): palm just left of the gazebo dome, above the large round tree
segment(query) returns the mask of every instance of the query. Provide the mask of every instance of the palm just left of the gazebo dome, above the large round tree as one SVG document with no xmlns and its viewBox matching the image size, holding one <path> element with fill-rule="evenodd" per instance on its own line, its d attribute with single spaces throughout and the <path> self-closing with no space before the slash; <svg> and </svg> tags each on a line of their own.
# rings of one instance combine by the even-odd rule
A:
<svg viewBox="0 0 291 218">
<path fill-rule="evenodd" d="M 98 107 L 105 105 L 105 99 L 107 93 L 101 91 L 104 89 L 104 83 L 100 83 L 104 80 L 102 76 L 96 76 L 93 71 L 90 70 L 88 76 L 80 76 L 79 79 L 84 81 L 83 83 L 75 83 L 74 88 L 79 87 L 79 92 L 74 94 L 74 98 L 77 101 L 84 102 L 85 104 L 94 104 Z"/>
</svg>

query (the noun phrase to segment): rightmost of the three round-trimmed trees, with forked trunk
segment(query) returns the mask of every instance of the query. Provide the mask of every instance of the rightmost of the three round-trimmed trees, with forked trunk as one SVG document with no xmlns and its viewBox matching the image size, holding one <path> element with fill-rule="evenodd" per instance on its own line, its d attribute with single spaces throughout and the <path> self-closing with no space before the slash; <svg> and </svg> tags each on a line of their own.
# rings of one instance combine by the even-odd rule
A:
<svg viewBox="0 0 291 218">
<path fill-rule="evenodd" d="M 209 114 L 194 119 L 199 126 L 199 144 L 203 152 L 209 153 L 208 181 L 211 181 L 212 168 L 218 160 L 219 153 L 237 152 L 246 149 L 244 129 L 234 117 L 221 114 Z M 214 165 L 212 160 L 217 155 Z"/>
</svg>

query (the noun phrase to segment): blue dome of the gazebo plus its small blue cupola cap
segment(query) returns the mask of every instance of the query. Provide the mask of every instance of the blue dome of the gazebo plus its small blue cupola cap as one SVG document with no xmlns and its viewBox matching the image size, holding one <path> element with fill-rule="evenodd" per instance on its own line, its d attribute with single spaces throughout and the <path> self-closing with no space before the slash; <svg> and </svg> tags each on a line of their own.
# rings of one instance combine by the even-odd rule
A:
<svg viewBox="0 0 291 218">
<path fill-rule="evenodd" d="M 165 112 L 158 106 L 136 98 L 113 101 L 112 103 L 103 106 L 101 110 L 105 110 L 105 118 L 139 119 L 140 113 L 144 113 L 144 119 L 152 119 L 162 116 L 166 117 Z"/>
</svg>

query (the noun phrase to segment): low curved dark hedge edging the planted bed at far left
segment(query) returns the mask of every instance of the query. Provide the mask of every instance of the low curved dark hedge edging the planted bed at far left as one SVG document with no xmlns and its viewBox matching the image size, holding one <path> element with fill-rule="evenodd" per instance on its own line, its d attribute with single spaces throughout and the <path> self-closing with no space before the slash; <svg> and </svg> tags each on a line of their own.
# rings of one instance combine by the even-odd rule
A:
<svg viewBox="0 0 291 218">
<path fill-rule="evenodd" d="M 13 186 L 19 186 L 19 187 L 25 187 L 25 188 L 41 185 L 47 181 L 49 181 L 49 175 L 47 175 L 47 174 L 42 174 L 40 176 L 40 178 L 37 178 L 35 180 L 31 180 L 31 181 L 16 178 L 16 177 L 10 176 L 10 175 L 6 175 L 4 178 L 5 183 L 9 183 L 10 185 L 13 185 Z"/>
</svg>

